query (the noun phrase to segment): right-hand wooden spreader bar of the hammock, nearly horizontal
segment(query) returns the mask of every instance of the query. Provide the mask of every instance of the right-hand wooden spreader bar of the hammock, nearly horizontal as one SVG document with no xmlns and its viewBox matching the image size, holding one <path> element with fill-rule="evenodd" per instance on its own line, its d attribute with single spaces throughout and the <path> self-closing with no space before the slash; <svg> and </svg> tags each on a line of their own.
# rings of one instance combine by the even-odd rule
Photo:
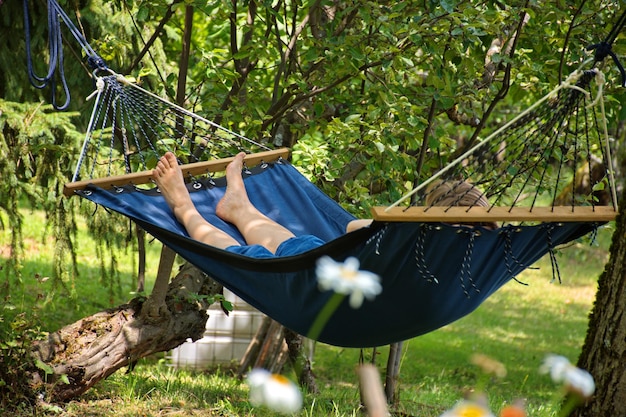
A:
<svg viewBox="0 0 626 417">
<path fill-rule="evenodd" d="M 615 220 L 613 206 L 555 207 L 372 207 L 374 220 L 382 222 L 605 222 Z"/>
</svg>

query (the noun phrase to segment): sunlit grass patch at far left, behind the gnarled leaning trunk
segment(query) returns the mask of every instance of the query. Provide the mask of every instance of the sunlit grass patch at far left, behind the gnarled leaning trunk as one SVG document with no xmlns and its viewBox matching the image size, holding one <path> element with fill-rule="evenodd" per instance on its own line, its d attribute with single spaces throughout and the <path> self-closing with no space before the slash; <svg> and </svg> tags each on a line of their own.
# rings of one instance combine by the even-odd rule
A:
<svg viewBox="0 0 626 417">
<path fill-rule="evenodd" d="M 128 250 L 118 254 L 116 274 L 103 276 L 101 265 L 109 268 L 110 259 L 102 260 L 95 252 L 96 242 L 81 224 L 75 242 L 79 272 L 77 279 L 53 279 L 54 239 L 44 228 L 45 218 L 39 211 L 24 211 L 24 254 L 21 277 L 14 276 L 8 268 L 0 271 L 0 295 L 6 296 L 10 288 L 10 303 L 17 311 L 37 312 L 42 318 L 42 330 L 54 331 L 59 327 L 128 301 L 137 284 L 137 257 Z M 0 260 L 9 254 L 10 233 L 0 229 Z M 158 245 L 149 245 L 152 276 L 158 261 Z M 1 261 L 0 261 L 1 262 Z M 2 262 L 4 263 L 4 262 Z M 4 266 L 4 265 L 3 265 Z M 71 274 L 69 261 L 66 275 Z M 151 288 L 151 287 L 148 287 Z"/>
</svg>

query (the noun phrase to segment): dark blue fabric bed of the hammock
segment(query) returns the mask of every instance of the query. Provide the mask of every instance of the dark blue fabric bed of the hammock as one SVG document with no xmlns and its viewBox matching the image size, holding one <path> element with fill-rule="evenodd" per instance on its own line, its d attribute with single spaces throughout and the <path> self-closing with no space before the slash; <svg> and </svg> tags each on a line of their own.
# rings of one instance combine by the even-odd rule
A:
<svg viewBox="0 0 626 417">
<path fill-rule="evenodd" d="M 156 190 L 134 186 L 77 193 L 117 211 L 287 328 L 307 335 L 332 295 L 320 291 L 315 263 L 328 255 L 354 256 L 382 278 L 382 293 L 358 309 L 344 300 L 318 340 L 345 347 L 381 346 L 419 336 L 475 310 L 487 297 L 557 245 L 588 232 L 593 223 L 543 223 L 498 230 L 440 223 L 378 223 L 344 234 L 354 219 L 287 162 L 263 164 L 244 175 L 252 203 L 295 235 L 327 243 L 286 258 L 254 259 L 191 239 Z M 188 185 L 206 219 L 244 243 L 215 215 L 223 178 Z"/>
</svg>

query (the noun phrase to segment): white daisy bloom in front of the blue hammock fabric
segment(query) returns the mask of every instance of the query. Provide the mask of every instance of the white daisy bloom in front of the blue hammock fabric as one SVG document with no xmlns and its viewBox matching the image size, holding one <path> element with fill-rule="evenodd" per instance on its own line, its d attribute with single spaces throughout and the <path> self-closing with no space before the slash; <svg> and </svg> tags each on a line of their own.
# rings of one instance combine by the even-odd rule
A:
<svg viewBox="0 0 626 417">
<path fill-rule="evenodd" d="M 359 308 L 363 299 L 373 300 L 383 290 L 380 277 L 373 272 L 359 270 L 359 260 L 350 257 L 335 262 L 329 256 L 317 260 L 317 283 L 322 291 L 333 290 L 350 296 L 350 307 Z"/>
</svg>

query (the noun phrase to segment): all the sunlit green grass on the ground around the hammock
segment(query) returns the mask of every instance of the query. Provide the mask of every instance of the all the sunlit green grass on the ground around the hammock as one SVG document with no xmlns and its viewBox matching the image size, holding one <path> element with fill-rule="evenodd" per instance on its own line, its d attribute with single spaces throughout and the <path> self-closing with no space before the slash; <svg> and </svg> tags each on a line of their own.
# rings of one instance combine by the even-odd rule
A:
<svg viewBox="0 0 626 417">
<path fill-rule="evenodd" d="M 38 213 L 29 216 L 42 220 Z M 542 259 L 535 265 L 537 268 L 518 277 L 527 286 L 512 281 L 469 316 L 405 342 L 395 414 L 439 416 L 465 393 L 480 389 L 488 395 L 495 411 L 524 398 L 530 416 L 555 416 L 561 392 L 548 376 L 538 373 L 538 368 L 547 353 L 576 361 L 585 337 L 596 281 L 608 260 L 611 233 L 610 227 L 604 228 L 596 245 L 576 243 L 559 255 L 562 283 L 552 282 L 549 259 Z M 53 248 L 50 239 L 42 239 L 41 223 L 27 222 L 27 259 L 22 284 L 8 278 L 11 283 L 8 304 L 15 311 L 35 310 L 44 330 L 56 330 L 132 297 L 136 261 L 131 251 L 118 260 L 119 283 L 111 286 L 101 279 L 99 260 L 90 249 L 93 242 L 84 232 L 79 236 L 80 276 L 65 283 L 67 289 L 63 289 L 58 284 L 55 286 L 53 280 L 41 282 L 41 277 L 51 274 Z M 0 233 L 0 245 L 5 245 L 7 239 L 6 233 Z M 151 245 L 153 268 L 158 251 L 158 245 Z M 370 360 L 372 350 L 364 352 Z M 381 374 L 387 353 L 387 347 L 380 348 L 374 358 Z M 507 375 L 498 379 L 482 373 L 470 361 L 476 353 L 500 361 Z M 318 344 L 314 371 L 321 393 L 305 394 L 301 416 L 360 415 L 355 374 L 359 354 L 358 349 Z M 293 377 L 291 372 L 287 376 Z M 63 416 L 276 415 L 252 407 L 247 392 L 245 382 L 233 377 L 228 369 L 175 370 L 160 355 L 140 361 L 130 373 L 118 371 L 60 409 L 24 410 L 16 416 L 36 412 Z"/>
</svg>

